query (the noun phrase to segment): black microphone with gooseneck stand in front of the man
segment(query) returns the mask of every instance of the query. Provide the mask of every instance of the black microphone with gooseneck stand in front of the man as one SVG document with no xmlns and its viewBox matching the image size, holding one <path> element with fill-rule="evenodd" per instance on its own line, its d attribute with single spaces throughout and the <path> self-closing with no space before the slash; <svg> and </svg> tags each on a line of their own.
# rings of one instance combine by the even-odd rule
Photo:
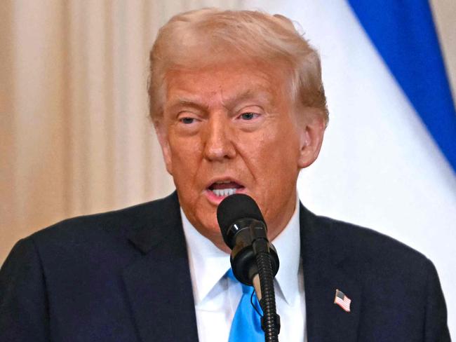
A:
<svg viewBox="0 0 456 342">
<path fill-rule="evenodd" d="M 236 279 L 255 286 L 263 310 L 264 341 L 279 341 L 280 317 L 276 313 L 274 276 L 279 271 L 276 249 L 267 239 L 267 226 L 257 203 L 250 196 L 228 196 L 217 207 L 217 221 L 222 237 L 232 249 L 230 261 Z"/>
</svg>

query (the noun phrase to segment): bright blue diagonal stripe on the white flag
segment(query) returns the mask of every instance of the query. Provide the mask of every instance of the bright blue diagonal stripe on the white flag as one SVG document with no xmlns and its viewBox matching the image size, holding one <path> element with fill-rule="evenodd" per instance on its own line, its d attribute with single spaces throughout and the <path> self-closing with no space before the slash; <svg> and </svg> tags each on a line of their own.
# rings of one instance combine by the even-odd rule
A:
<svg viewBox="0 0 456 342">
<path fill-rule="evenodd" d="M 426 0 L 348 0 L 456 171 L 456 111 Z"/>
</svg>

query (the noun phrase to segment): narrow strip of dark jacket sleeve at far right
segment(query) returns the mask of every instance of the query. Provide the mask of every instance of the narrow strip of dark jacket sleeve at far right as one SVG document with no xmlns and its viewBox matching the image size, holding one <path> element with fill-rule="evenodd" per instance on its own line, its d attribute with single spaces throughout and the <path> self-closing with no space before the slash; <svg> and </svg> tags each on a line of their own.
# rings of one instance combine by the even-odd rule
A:
<svg viewBox="0 0 456 342">
<path fill-rule="evenodd" d="M 447 325 L 445 299 L 438 280 L 434 264 L 428 260 L 427 271 L 426 321 L 424 323 L 424 341 L 450 342 Z"/>
</svg>

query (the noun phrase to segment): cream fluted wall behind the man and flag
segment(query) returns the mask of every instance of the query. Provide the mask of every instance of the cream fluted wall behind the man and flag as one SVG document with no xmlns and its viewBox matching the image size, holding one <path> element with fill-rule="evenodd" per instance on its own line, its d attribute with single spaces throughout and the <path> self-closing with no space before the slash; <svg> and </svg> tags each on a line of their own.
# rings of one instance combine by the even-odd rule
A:
<svg viewBox="0 0 456 342">
<path fill-rule="evenodd" d="M 432 0 L 453 93 L 456 2 Z M 166 195 L 147 53 L 171 15 L 219 1 L 2 1 L 0 264 L 56 221 Z"/>
</svg>

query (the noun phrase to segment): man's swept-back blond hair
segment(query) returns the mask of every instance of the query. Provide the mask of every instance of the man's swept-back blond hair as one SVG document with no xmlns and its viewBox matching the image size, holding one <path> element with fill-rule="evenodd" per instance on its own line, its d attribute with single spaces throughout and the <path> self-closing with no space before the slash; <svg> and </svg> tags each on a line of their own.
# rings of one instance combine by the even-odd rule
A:
<svg viewBox="0 0 456 342">
<path fill-rule="evenodd" d="M 149 55 L 152 120 L 163 114 L 168 71 L 198 69 L 220 59 L 239 58 L 284 67 L 289 74 L 291 99 L 317 109 L 328 121 L 320 58 L 293 22 L 283 15 L 217 8 L 180 13 L 159 30 Z"/>
</svg>

